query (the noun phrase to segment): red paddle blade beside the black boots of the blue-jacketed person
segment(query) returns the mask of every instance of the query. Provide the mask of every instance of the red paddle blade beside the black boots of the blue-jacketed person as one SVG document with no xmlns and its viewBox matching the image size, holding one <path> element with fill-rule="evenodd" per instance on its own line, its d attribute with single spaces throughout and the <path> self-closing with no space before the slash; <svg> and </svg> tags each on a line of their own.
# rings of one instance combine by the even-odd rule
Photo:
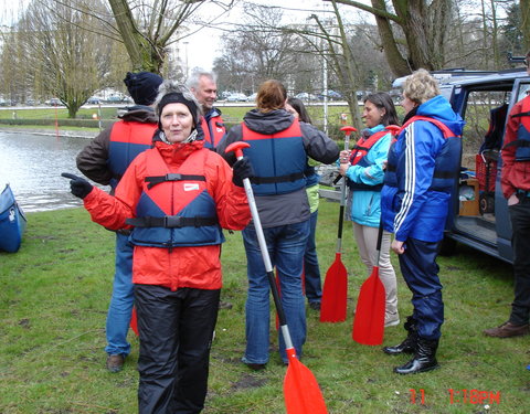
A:
<svg viewBox="0 0 530 414">
<path fill-rule="evenodd" d="M 369 346 L 383 343 L 384 307 L 384 286 L 379 278 L 379 267 L 374 266 L 359 291 L 351 335 L 356 342 Z"/>
</svg>

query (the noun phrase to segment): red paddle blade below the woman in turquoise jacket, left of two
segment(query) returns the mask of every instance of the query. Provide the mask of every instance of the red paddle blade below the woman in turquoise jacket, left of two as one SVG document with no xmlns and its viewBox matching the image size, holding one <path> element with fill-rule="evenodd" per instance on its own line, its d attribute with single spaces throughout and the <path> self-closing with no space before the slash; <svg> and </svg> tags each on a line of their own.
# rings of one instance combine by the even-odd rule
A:
<svg viewBox="0 0 530 414">
<path fill-rule="evenodd" d="M 322 299 L 320 301 L 321 322 L 342 322 L 346 320 L 348 298 L 348 272 L 336 253 L 335 262 L 326 273 Z"/>
</svg>

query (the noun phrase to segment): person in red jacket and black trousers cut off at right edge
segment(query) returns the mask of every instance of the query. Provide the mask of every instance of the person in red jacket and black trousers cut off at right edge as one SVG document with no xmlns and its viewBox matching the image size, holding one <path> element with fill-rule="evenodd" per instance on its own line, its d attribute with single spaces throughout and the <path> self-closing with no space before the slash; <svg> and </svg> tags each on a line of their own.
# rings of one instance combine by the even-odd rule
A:
<svg viewBox="0 0 530 414">
<path fill-rule="evenodd" d="M 530 51 L 524 64 L 530 76 Z M 530 94 L 516 103 L 508 115 L 500 152 L 500 183 L 508 200 L 513 250 L 515 298 L 509 319 L 484 333 L 511 338 L 530 333 Z M 529 365 L 530 367 L 530 365 Z"/>
</svg>

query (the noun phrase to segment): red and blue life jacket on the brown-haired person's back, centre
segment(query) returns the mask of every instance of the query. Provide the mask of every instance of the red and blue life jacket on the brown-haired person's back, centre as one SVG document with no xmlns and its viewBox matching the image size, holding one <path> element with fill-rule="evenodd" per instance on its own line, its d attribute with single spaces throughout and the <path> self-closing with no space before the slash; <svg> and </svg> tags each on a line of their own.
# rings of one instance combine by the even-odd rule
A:
<svg viewBox="0 0 530 414">
<path fill-rule="evenodd" d="M 243 140 L 251 144 L 243 152 L 252 161 L 255 177 L 251 182 L 256 195 L 285 194 L 306 187 L 307 153 L 298 119 L 272 135 L 253 131 L 243 123 L 242 132 Z"/>
</svg>

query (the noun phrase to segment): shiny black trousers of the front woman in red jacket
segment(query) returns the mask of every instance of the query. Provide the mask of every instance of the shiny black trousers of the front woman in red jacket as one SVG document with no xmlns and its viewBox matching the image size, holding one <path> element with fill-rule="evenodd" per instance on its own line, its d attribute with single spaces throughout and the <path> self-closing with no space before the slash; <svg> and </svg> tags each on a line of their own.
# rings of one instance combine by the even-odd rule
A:
<svg viewBox="0 0 530 414">
<path fill-rule="evenodd" d="M 204 407 L 220 290 L 135 285 L 140 335 L 140 414 L 197 414 Z"/>
</svg>

